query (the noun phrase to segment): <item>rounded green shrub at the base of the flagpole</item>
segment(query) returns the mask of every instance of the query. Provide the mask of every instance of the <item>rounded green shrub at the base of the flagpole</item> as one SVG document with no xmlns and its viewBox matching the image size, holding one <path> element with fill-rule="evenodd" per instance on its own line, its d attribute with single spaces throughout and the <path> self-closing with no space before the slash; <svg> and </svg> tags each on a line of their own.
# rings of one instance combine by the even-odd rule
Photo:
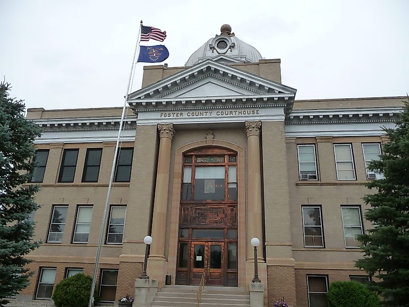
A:
<svg viewBox="0 0 409 307">
<path fill-rule="evenodd" d="M 55 287 L 52 299 L 57 307 L 88 307 L 92 277 L 84 274 L 62 279 Z M 94 304 L 99 296 L 94 292 Z"/>
</svg>

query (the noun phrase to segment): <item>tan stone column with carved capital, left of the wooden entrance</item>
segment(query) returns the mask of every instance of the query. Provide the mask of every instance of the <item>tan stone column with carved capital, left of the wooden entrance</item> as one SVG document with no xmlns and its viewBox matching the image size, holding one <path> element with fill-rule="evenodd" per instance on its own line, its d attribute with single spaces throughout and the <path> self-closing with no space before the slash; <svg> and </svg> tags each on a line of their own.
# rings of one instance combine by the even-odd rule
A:
<svg viewBox="0 0 409 307">
<path fill-rule="evenodd" d="M 160 142 L 158 170 L 156 174 L 155 201 L 153 203 L 153 219 L 148 275 L 157 279 L 159 287 L 165 280 L 165 236 L 167 215 L 167 191 L 169 187 L 170 146 L 174 134 L 173 124 L 158 124 Z"/>
</svg>

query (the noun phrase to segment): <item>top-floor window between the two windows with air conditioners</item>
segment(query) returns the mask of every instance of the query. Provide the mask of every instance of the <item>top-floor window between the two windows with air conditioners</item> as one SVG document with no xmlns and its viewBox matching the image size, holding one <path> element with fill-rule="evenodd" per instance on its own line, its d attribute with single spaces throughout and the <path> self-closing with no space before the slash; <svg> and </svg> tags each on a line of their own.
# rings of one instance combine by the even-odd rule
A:
<svg viewBox="0 0 409 307">
<path fill-rule="evenodd" d="M 334 144 L 336 179 L 355 180 L 351 144 Z"/>
</svg>

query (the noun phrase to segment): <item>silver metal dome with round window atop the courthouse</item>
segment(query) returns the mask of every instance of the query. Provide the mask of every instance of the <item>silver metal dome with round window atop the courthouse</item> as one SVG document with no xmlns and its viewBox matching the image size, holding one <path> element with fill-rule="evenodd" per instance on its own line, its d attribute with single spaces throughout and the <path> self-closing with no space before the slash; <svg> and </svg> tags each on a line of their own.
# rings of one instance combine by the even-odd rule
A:
<svg viewBox="0 0 409 307">
<path fill-rule="evenodd" d="M 225 26 L 225 25 L 224 25 Z M 201 61 L 218 57 L 217 61 L 222 63 L 231 62 L 252 62 L 257 63 L 261 60 L 261 54 L 258 50 L 244 43 L 241 39 L 234 36 L 234 33 L 223 31 L 220 35 L 210 38 L 203 46 L 198 48 L 186 61 L 185 66 L 193 66 Z M 227 56 L 227 57 L 226 57 Z"/>
</svg>

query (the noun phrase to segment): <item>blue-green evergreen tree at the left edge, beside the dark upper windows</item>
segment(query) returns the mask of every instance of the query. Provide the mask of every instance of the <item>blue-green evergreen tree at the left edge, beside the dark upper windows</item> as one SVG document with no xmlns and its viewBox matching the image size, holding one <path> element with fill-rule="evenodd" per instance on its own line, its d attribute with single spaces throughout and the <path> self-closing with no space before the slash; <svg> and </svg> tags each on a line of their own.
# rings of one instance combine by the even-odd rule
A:
<svg viewBox="0 0 409 307">
<path fill-rule="evenodd" d="M 38 185 L 26 184 L 35 153 L 33 140 L 40 129 L 24 116 L 23 101 L 9 97 L 10 84 L 0 82 L 0 306 L 8 296 L 28 286 L 33 272 L 24 258 L 39 242 L 32 242 L 30 214 L 38 208 Z"/>
</svg>

